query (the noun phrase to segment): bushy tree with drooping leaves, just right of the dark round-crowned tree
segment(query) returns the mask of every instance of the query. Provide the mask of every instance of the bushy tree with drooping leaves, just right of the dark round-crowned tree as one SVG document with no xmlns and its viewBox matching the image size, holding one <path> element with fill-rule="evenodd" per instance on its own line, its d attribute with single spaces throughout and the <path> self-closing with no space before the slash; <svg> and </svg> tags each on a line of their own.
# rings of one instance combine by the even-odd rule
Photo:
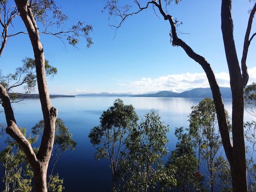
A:
<svg viewBox="0 0 256 192">
<path fill-rule="evenodd" d="M 148 188 L 154 191 L 159 182 L 167 188 L 175 185 L 175 167 L 165 167 L 162 159 L 168 154 L 168 131 L 168 125 L 164 125 L 159 114 L 151 110 L 139 127 L 129 134 L 126 142 L 128 152 L 119 169 L 125 191 L 147 191 Z M 160 189 L 164 187 L 159 186 Z"/>
</svg>

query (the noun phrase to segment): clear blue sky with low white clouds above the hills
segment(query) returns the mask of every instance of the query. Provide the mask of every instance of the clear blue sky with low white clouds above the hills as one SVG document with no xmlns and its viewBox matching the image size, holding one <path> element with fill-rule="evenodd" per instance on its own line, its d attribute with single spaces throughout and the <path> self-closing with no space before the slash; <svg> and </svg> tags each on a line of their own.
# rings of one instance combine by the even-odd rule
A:
<svg viewBox="0 0 256 192">
<path fill-rule="evenodd" d="M 53 36 L 40 36 L 45 58 L 49 60 L 50 65 L 58 69 L 58 74 L 47 81 L 51 94 L 139 94 L 159 90 L 181 92 L 196 87 L 209 87 L 202 67 L 189 58 L 181 47 L 172 47 L 169 23 L 157 12 L 158 18 L 152 7 L 127 18 L 115 36 L 115 30 L 109 25 L 118 25 L 119 18 L 108 20 L 108 13 L 101 12 L 105 0 L 55 2 L 69 18 L 65 27 L 70 27 L 79 20 L 92 25 L 90 36 L 94 45 L 87 49 L 85 40 L 81 39 L 79 50 L 76 50 L 69 45 L 65 47 Z M 132 0 L 126 2 L 135 6 Z M 171 4 L 168 13 L 183 23 L 178 27 L 181 32 L 179 37 L 196 53 L 207 59 L 219 85 L 228 87 L 229 74 L 220 28 L 220 6 L 220 0 L 183 0 L 178 5 Z M 252 6 L 253 3 L 249 3 L 249 0 L 237 0 L 232 4 L 234 37 L 239 60 L 249 18 L 247 12 Z M 13 22 L 13 25 L 16 29 L 24 29 L 20 18 Z M 256 32 L 255 23 L 252 32 Z M 249 83 L 256 82 L 255 52 L 254 39 L 247 58 Z M 33 57 L 28 36 L 21 34 L 9 38 L 0 57 L 2 74 L 13 72 L 16 67 L 22 65 L 21 60 L 25 57 Z"/>
</svg>

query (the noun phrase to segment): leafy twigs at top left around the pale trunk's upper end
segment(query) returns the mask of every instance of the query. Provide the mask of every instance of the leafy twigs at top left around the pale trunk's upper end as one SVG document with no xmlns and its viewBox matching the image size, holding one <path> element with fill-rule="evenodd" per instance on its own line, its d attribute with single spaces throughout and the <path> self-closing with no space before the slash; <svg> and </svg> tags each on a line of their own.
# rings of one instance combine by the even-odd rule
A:
<svg viewBox="0 0 256 192">
<path fill-rule="evenodd" d="M 89 32 L 92 31 L 92 26 L 78 21 L 76 25 L 64 29 L 63 25 L 68 20 L 68 17 L 61 11 L 61 7 L 56 6 L 53 0 L 31 0 L 29 1 L 29 7 L 36 22 L 40 22 L 43 25 L 38 33 L 55 36 L 64 45 L 68 42 L 68 44 L 76 47 L 79 38 L 82 37 L 88 42 L 88 47 L 92 45 L 92 38 L 88 36 Z M 28 31 L 20 29 L 13 22 L 13 20 L 19 19 L 17 17 L 19 15 L 19 9 L 13 1 L 0 1 L 0 56 L 9 38 L 20 34 L 29 34 Z"/>
</svg>

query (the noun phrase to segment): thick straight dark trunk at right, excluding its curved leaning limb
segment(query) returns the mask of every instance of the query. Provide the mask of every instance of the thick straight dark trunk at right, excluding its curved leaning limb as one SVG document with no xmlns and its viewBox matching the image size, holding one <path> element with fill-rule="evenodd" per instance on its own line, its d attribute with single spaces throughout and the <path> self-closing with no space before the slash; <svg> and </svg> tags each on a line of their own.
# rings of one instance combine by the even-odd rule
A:
<svg viewBox="0 0 256 192">
<path fill-rule="evenodd" d="M 239 66 L 233 37 L 231 0 L 222 0 L 221 29 L 227 64 L 229 67 L 232 92 L 232 134 L 233 153 L 230 163 L 234 192 L 248 191 L 245 161 L 244 118 L 244 81 Z M 245 67 L 245 66 L 244 66 Z M 247 82 L 246 82 L 247 83 Z"/>
</svg>

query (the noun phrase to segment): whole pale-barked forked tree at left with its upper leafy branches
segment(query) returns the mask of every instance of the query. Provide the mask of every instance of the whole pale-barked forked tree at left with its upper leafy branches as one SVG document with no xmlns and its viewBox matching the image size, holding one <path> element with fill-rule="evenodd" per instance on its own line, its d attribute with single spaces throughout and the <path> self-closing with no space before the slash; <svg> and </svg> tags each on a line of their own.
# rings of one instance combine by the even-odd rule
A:
<svg viewBox="0 0 256 192">
<path fill-rule="evenodd" d="M 20 132 L 20 129 L 16 125 L 16 120 L 13 114 L 13 109 L 11 107 L 11 102 L 6 89 L 0 84 L 0 98 L 2 99 L 2 106 L 4 107 L 4 112 L 7 121 L 6 132 L 15 139 L 19 144 L 20 148 L 24 151 L 29 164 L 34 172 L 34 191 L 47 191 L 47 168 L 49 165 L 49 160 L 52 154 L 52 148 L 54 145 L 54 133 L 55 133 L 55 121 L 57 118 L 58 110 L 55 109 L 50 101 L 49 92 L 47 88 L 47 81 L 45 75 L 45 55 L 43 50 L 43 44 L 40 41 L 39 34 L 40 31 L 37 27 L 37 22 L 45 21 L 46 18 L 56 19 L 56 22 L 49 22 L 56 27 L 60 27 L 63 24 L 63 18 L 58 16 L 63 16 L 59 8 L 56 7 L 53 0 L 15 0 L 15 4 L 9 4 L 7 0 L 1 0 L 1 26 L 4 28 L 1 33 L 1 53 L 6 45 L 8 36 L 8 28 L 10 27 L 12 20 L 20 16 L 22 22 L 25 24 L 25 33 L 29 35 L 31 45 L 34 51 L 34 58 L 36 63 L 36 78 L 38 85 L 38 92 L 40 97 L 40 103 L 43 112 L 44 120 L 44 131 L 40 147 L 37 153 L 34 152 L 33 148 L 25 136 Z M 48 16 L 48 13 L 52 11 L 54 13 L 53 17 Z M 12 15 L 8 15 L 11 13 Z M 5 17 L 6 16 L 6 17 Z M 4 18 L 2 18 L 4 17 Z M 46 28 L 46 29 L 50 29 Z M 61 27 L 59 29 L 62 29 Z M 76 45 L 79 41 L 79 37 L 85 37 L 88 42 L 88 46 L 92 44 L 91 38 L 88 36 L 89 32 L 92 30 L 91 26 L 83 27 L 82 22 L 78 22 L 78 25 L 71 27 L 70 33 L 67 34 L 66 40 L 71 45 Z M 22 33 L 19 31 L 15 34 Z M 53 35 L 56 33 L 52 33 Z M 63 40 L 61 38 L 61 40 Z"/>
</svg>

